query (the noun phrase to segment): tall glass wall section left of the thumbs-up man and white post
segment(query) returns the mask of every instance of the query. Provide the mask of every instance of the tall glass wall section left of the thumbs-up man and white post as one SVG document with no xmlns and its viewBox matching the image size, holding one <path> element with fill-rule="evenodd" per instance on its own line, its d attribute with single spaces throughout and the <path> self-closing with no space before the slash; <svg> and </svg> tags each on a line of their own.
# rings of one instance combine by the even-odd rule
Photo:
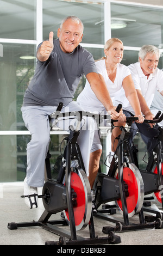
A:
<svg viewBox="0 0 163 256">
<path fill-rule="evenodd" d="M 0 182 L 26 175 L 29 135 L 20 108 L 36 63 L 36 1 L 0 1 Z"/>
</svg>

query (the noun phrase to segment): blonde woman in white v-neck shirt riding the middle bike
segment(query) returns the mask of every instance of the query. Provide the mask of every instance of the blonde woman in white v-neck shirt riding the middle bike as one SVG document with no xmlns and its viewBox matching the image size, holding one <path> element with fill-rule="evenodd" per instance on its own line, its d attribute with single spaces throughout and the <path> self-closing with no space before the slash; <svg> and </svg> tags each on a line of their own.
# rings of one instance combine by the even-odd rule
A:
<svg viewBox="0 0 163 256">
<path fill-rule="evenodd" d="M 120 64 L 123 58 L 123 42 L 118 38 L 109 39 L 105 43 L 104 53 L 105 57 L 99 59 L 96 62 L 96 67 L 98 70 L 99 77 L 106 84 L 111 100 L 114 100 L 114 97 L 116 96 L 117 92 L 119 92 L 123 87 L 126 93 L 126 97 L 135 111 L 135 117 L 139 117 L 139 120 L 137 122 L 142 123 L 144 118 L 141 113 L 139 99 L 136 94 L 130 70 L 128 69 L 127 66 Z M 91 113 L 101 113 L 105 111 L 103 104 L 98 100 L 98 97 L 93 93 L 88 81 L 86 81 L 82 93 L 80 93 L 80 95 L 78 96 L 77 102 L 80 104 L 80 106 L 82 106 L 85 109 L 85 111 L 89 111 Z M 122 114 L 120 119 L 118 120 L 124 121 L 124 115 Z M 116 123 L 117 126 L 122 124 L 124 123 Z M 114 142 L 115 137 L 117 137 L 119 134 L 120 129 L 115 127 L 112 130 L 111 141 Z M 112 151 L 114 151 L 113 143 Z M 96 179 L 101 154 L 102 145 L 100 142 L 98 130 L 96 130 L 91 148 L 89 164 L 89 181 L 91 188 L 93 187 L 93 183 Z"/>
</svg>

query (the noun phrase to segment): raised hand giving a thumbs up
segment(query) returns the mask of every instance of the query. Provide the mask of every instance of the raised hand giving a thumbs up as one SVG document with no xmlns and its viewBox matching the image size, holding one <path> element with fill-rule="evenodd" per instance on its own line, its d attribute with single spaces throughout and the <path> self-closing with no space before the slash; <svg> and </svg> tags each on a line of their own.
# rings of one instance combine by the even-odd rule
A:
<svg viewBox="0 0 163 256">
<path fill-rule="evenodd" d="M 37 51 L 37 59 L 39 59 L 42 62 L 45 62 L 49 58 L 51 52 L 53 51 L 53 36 L 54 33 L 51 31 L 49 33 L 49 40 L 43 41 L 39 50 Z"/>
</svg>

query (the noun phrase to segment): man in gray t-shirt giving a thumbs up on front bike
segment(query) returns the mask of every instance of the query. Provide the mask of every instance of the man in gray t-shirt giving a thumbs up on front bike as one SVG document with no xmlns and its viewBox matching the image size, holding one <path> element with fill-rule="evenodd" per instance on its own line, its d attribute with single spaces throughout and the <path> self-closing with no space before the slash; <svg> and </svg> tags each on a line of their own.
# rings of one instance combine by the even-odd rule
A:
<svg viewBox="0 0 163 256">
<path fill-rule="evenodd" d="M 35 74 L 24 94 L 21 108 L 24 123 L 32 135 L 27 145 L 27 176 L 24 179 L 24 196 L 27 196 L 24 198 L 29 208 L 37 207 L 37 196 L 30 197 L 31 201 L 28 196 L 37 195 L 37 187 L 42 187 L 45 181 L 45 158 L 50 141 L 48 117 L 57 109 L 59 102 L 64 103 L 62 112 L 83 110 L 72 100 L 83 75 L 111 118 L 117 119 L 120 116 L 112 105 L 105 84 L 98 76 L 92 54 L 79 45 L 83 38 L 82 21 L 75 16 L 66 17 L 57 35 L 58 39 L 53 40 L 53 32 L 50 32 L 49 40 L 38 46 Z M 87 130 L 81 130 L 78 137 L 87 175 L 94 135 L 93 120 L 88 123 Z"/>
</svg>

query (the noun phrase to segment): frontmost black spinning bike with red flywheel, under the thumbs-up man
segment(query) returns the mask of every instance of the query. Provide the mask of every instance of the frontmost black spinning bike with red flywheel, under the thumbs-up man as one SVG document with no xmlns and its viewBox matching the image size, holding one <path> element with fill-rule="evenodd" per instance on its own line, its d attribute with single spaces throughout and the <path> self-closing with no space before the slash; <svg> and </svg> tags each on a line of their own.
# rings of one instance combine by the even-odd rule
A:
<svg viewBox="0 0 163 256">
<path fill-rule="evenodd" d="M 62 164 L 58 173 L 57 180 L 52 179 L 50 157 L 46 157 L 47 181 L 43 186 L 42 198 L 45 211 L 39 218 L 39 221 L 26 223 L 8 223 L 9 229 L 21 227 L 39 226 L 52 233 L 59 235 L 59 241 L 47 241 L 46 245 L 101 245 L 109 243 L 120 243 L 121 238 L 110 231 L 106 237 L 97 237 L 95 235 L 95 226 L 92 215 L 92 196 L 89 180 L 87 179 L 82 155 L 77 143 L 80 133 L 80 123 L 87 112 L 60 113 L 62 103 L 59 104 L 57 111 L 51 114 L 55 119 L 55 125 L 58 118 L 74 116 L 77 119 L 77 126 L 74 129 L 70 126 L 70 134 L 66 138 L 66 147 Z M 55 126 L 56 127 L 56 126 Z M 72 161 L 76 161 L 76 167 L 72 167 Z M 61 212 L 62 219 L 50 221 L 53 214 Z M 70 231 L 66 231 L 59 225 L 69 225 Z M 84 229 L 89 225 L 90 238 L 85 239 L 77 235 L 77 231 Z M 67 240 L 68 239 L 68 240 Z"/>
</svg>

